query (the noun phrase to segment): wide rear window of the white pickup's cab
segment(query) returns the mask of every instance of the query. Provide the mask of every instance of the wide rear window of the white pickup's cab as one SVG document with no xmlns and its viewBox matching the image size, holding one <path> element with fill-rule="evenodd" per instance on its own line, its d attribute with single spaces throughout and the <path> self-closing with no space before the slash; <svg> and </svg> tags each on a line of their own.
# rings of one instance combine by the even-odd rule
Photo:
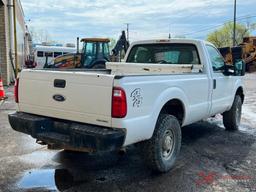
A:
<svg viewBox="0 0 256 192">
<path fill-rule="evenodd" d="M 198 51 L 192 44 L 135 45 L 128 63 L 200 64 Z"/>
</svg>

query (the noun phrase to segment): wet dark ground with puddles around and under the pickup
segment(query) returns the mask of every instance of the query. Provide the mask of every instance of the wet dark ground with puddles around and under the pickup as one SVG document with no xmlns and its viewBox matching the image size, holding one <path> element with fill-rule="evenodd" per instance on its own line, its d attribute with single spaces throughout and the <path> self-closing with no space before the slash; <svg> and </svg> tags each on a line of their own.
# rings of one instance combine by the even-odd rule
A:
<svg viewBox="0 0 256 192">
<path fill-rule="evenodd" d="M 163 175 L 148 170 L 132 146 L 123 156 L 49 151 L 17 133 L 0 105 L 0 191 L 256 191 L 256 74 L 246 76 L 241 130 L 227 132 L 221 116 L 182 130 L 181 154 Z"/>
</svg>

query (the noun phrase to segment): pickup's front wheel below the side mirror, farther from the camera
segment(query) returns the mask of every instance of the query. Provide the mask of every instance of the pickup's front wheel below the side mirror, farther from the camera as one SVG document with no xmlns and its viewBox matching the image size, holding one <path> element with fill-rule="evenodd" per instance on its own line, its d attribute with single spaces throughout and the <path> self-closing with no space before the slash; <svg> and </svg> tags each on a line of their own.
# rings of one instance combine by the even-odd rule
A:
<svg viewBox="0 0 256 192">
<path fill-rule="evenodd" d="M 239 129 L 241 114 L 242 99 L 239 95 L 236 95 L 231 109 L 223 113 L 223 124 L 226 130 L 236 131 Z"/>
</svg>

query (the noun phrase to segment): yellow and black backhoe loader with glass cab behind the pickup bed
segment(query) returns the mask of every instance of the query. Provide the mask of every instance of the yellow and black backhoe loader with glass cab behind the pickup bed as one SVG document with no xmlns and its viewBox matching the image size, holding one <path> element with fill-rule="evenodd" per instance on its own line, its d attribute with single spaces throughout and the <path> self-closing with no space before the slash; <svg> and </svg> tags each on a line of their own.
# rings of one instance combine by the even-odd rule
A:
<svg viewBox="0 0 256 192">
<path fill-rule="evenodd" d="M 44 68 L 59 68 L 59 69 L 104 69 L 105 63 L 109 61 L 119 61 L 119 55 L 122 51 L 126 52 L 129 47 L 129 42 L 126 39 L 125 31 L 122 31 L 112 53 L 109 50 L 110 39 L 108 38 L 83 38 L 82 52 L 79 50 L 79 38 L 77 39 L 77 53 L 69 53 L 56 57 L 52 63 L 46 63 Z"/>
</svg>

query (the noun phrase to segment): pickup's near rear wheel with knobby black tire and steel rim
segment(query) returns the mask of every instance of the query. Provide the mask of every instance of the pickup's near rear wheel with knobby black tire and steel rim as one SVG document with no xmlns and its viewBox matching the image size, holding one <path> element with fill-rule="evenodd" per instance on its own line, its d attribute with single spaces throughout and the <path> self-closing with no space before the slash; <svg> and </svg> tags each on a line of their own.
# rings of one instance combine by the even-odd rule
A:
<svg viewBox="0 0 256 192">
<path fill-rule="evenodd" d="M 153 137 L 142 143 L 142 155 L 153 171 L 165 173 L 172 169 L 180 152 L 180 146 L 179 121 L 172 115 L 160 114 Z"/>
</svg>

